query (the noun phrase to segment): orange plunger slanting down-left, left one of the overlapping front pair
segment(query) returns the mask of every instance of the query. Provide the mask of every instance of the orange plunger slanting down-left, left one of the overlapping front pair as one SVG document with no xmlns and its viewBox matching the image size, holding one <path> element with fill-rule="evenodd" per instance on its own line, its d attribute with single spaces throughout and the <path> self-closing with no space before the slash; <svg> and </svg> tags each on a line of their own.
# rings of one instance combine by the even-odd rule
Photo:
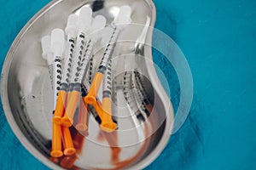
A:
<svg viewBox="0 0 256 170">
<path fill-rule="evenodd" d="M 59 91 L 58 99 L 55 106 L 55 115 L 52 118 L 53 122 L 57 124 L 61 124 L 61 117 L 64 115 L 65 112 L 65 103 L 67 99 L 67 92 L 66 91 Z"/>
</svg>

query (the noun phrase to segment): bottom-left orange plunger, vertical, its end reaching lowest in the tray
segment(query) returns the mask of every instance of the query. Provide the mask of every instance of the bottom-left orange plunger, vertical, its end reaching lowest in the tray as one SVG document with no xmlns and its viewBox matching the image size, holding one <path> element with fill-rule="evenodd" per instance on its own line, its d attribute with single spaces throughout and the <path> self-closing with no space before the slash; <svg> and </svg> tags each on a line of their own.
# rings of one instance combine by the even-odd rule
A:
<svg viewBox="0 0 256 170">
<path fill-rule="evenodd" d="M 61 150 L 61 126 L 53 123 L 52 143 L 50 156 L 61 157 L 63 155 Z"/>
</svg>

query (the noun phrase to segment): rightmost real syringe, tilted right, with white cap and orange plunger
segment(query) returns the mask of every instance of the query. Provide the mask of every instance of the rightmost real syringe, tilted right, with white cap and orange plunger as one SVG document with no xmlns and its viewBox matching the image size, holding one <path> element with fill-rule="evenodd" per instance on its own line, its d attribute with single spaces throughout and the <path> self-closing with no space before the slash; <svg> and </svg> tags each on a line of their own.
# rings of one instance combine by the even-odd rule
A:
<svg viewBox="0 0 256 170">
<path fill-rule="evenodd" d="M 113 23 L 112 23 L 113 32 L 112 32 L 111 38 L 108 42 L 107 47 L 105 48 L 104 54 L 102 56 L 102 61 L 98 67 L 98 70 L 93 79 L 93 82 L 91 83 L 89 93 L 84 98 L 84 101 L 90 105 L 96 104 L 96 94 L 98 93 L 99 88 L 102 84 L 102 80 L 103 80 L 105 71 L 107 69 L 108 61 L 111 58 L 111 55 L 113 54 L 113 49 L 119 37 L 119 33 L 124 28 L 124 25 L 119 26 L 119 24 L 129 24 L 129 22 L 131 22 L 130 16 L 131 16 L 131 8 L 129 6 L 122 6 L 120 7 L 119 15 L 115 20 L 113 20 Z"/>
</svg>

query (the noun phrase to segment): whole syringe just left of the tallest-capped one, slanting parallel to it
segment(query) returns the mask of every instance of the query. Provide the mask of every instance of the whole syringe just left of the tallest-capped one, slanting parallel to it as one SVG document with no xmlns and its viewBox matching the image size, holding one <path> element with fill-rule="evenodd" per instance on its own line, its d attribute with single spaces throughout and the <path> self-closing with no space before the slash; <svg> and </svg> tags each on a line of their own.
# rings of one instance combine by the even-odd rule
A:
<svg viewBox="0 0 256 170">
<path fill-rule="evenodd" d="M 70 81 L 71 72 L 72 72 L 72 61 L 73 61 L 73 50 L 74 44 L 78 32 L 78 16 L 76 14 L 69 15 L 67 19 L 67 54 L 63 68 L 63 74 L 61 77 L 61 90 L 58 94 L 57 104 L 55 106 L 55 116 L 53 117 L 53 122 L 61 124 L 61 117 L 64 115 L 65 104 L 67 99 L 68 83 Z"/>
</svg>

